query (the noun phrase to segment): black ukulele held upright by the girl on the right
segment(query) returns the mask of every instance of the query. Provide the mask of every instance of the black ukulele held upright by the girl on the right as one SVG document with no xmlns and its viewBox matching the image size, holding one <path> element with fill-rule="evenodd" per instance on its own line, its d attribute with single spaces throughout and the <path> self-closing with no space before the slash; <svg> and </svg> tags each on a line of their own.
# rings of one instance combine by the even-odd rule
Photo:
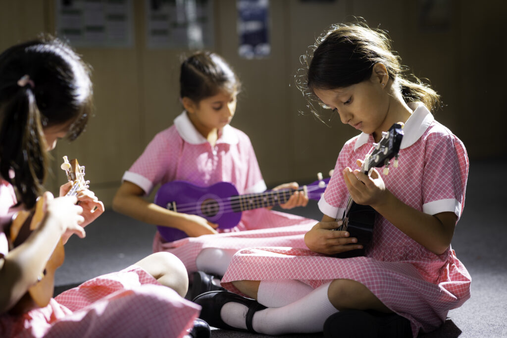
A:
<svg viewBox="0 0 507 338">
<path fill-rule="evenodd" d="M 370 176 L 371 171 L 375 167 L 384 166 L 383 173 L 389 173 L 389 161 L 394 157 L 394 167 L 398 166 L 398 152 L 403 139 L 403 126 L 399 122 L 389 128 L 387 132 L 382 132 L 382 139 L 378 143 L 374 143 L 374 147 L 369 155 L 366 156 L 361 172 Z M 373 236 L 373 227 L 375 223 L 376 211 L 369 205 L 356 204 L 350 194 L 345 202 L 344 212 L 336 217 L 337 221 L 341 221 L 342 225 L 335 230 L 348 231 L 350 237 L 357 238 L 357 243 L 363 245 L 363 249 L 355 249 L 335 256 L 339 258 L 363 256 L 365 248 L 370 245 Z"/>
</svg>

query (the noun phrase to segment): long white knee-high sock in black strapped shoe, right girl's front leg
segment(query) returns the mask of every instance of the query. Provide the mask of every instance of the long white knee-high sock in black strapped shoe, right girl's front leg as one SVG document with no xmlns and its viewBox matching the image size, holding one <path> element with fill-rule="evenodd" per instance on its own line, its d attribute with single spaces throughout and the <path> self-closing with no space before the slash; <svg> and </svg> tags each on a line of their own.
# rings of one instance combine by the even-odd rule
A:
<svg viewBox="0 0 507 338">
<path fill-rule="evenodd" d="M 330 284 L 324 284 L 284 307 L 256 312 L 252 320 L 253 329 L 271 335 L 321 332 L 325 320 L 338 312 L 328 298 Z M 220 315 L 225 323 L 246 329 L 247 311 L 244 305 L 231 302 L 222 307 Z"/>
</svg>

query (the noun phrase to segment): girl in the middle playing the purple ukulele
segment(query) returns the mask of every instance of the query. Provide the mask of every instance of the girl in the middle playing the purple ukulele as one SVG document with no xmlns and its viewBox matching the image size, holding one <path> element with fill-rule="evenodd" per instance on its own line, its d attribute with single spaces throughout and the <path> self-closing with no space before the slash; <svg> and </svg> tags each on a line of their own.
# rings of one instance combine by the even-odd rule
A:
<svg viewBox="0 0 507 338">
<path fill-rule="evenodd" d="M 260 208 L 243 211 L 236 227 L 222 230 L 201 216 L 174 212 L 142 198 L 158 184 L 174 180 L 199 186 L 231 182 L 240 195 L 266 190 L 250 139 L 230 125 L 241 85 L 227 62 L 214 53 L 197 52 L 182 63 L 179 82 L 185 110 L 171 127 L 154 137 L 125 172 L 113 208 L 143 222 L 185 232 L 189 237 L 167 242 L 157 231 L 153 251 L 174 253 L 189 273 L 199 270 L 222 276 L 237 250 L 259 243 L 304 247 L 301 236 L 295 241 L 287 235 L 306 233 L 314 220 Z M 288 187 L 296 189 L 298 185 L 282 184 L 275 189 Z M 305 194 L 295 192 L 282 207 L 307 202 Z M 294 225 L 300 227 L 290 227 Z M 268 242 L 265 237 L 269 237 Z M 211 276 L 194 276 L 213 287 Z"/>
</svg>

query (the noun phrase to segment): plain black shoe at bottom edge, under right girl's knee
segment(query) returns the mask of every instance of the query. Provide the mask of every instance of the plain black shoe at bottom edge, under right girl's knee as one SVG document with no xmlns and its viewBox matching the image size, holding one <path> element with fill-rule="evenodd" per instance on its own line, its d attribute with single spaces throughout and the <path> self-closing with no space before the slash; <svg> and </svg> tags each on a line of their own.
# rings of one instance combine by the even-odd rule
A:
<svg viewBox="0 0 507 338">
<path fill-rule="evenodd" d="M 404 338 L 412 337 L 410 321 L 395 313 L 344 310 L 324 322 L 324 338 L 333 337 Z"/>
</svg>

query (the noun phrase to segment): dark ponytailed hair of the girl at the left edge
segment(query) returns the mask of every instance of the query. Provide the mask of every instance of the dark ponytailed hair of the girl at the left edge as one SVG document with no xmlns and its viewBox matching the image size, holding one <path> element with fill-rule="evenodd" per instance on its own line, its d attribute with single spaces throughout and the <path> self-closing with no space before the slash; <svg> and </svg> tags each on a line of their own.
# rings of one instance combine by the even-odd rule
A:
<svg viewBox="0 0 507 338">
<path fill-rule="evenodd" d="M 0 54 L 0 175 L 28 208 L 46 177 L 44 128 L 69 123 L 67 138 L 74 140 L 91 110 L 89 67 L 60 40 L 42 37 Z"/>
</svg>

